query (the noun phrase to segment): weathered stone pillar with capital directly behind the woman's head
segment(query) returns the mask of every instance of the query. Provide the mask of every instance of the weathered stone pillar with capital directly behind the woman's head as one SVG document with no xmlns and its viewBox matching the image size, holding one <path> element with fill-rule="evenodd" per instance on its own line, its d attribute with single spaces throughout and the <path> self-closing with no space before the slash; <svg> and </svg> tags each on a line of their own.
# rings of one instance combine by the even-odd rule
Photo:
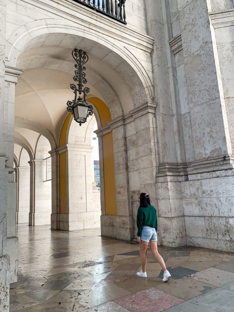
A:
<svg viewBox="0 0 234 312">
<path fill-rule="evenodd" d="M 155 175 L 158 165 L 156 106 L 154 103 L 146 103 L 135 108 L 130 111 L 132 117 L 125 121 L 134 238 L 137 233 L 136 216 L 140 193 L 149 193 L 151 203 L 158 214 L 155 191 Z"/>
</svg>

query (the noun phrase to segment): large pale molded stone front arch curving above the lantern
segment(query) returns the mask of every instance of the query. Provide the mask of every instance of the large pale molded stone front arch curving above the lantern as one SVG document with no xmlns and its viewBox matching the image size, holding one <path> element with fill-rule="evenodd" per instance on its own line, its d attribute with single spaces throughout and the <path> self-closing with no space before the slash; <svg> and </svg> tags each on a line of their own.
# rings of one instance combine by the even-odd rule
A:
<svg viewBox="0 0 234 312">
<path fill-rule="evenodd" d="M 29 22 L 25 26 L 17 29 L 9 38 L 8 45 L 6 47 L 6 58 L 9 66 L 16 66 L 16 61 L 18 56 L 30 47 L 30 44 L 40 38 L 43 42 L 49 34 L 61 33 L 66 36 L 66 34 L 77 36 L 77 34 L 82 34 L 80 38 L 86 38 L 92 40 L 95 44 L 98 44 L 108 51 L 120 57 L 123 61 L 123 67 L 125 70 L 133 72 L 131 79 L 125 79 L 124 82 L 128 87 L 132 88 L 132 95 L 140 98 L 141 104 L 152 101 L 154 99 L 154 91 L 152 84 L 152 77 L 149 77 L 144 66 L 140 61 L 130 52 L 126 47 L 120 45 L 119 43 L 111 42 L 108 37 L 103 37 L 97 30 L 90 30 L 82 28 L 80 25 L 69 21 L 61 21 L 54 19 L 43 19 L 39 21 Z M 65 37 L 64 36 L 64 37 Z M 123 76 L 123 71 L 120 70 L 120 74 Z M 124 79 L 124 78 L 123 78 Z M 135 98 L 135 102 L 137 102 Z M 136 106 L 140 104 L 136 103 Z"/>
</svg>

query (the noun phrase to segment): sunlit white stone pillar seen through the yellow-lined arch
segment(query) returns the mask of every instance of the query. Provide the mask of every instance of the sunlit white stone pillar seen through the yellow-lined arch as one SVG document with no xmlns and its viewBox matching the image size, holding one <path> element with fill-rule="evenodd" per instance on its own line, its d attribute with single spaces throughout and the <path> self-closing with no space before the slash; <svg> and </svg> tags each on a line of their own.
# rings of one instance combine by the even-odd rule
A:
<svg viewBox="0 0 234 312">
<path fill-rule="evenodd" d="M 79 230 L 100 226 L 100 202 L 93 187 L 93 147 L 66 145 L 66 213 L 60 212 L 60 229 Z"/>
</svg>

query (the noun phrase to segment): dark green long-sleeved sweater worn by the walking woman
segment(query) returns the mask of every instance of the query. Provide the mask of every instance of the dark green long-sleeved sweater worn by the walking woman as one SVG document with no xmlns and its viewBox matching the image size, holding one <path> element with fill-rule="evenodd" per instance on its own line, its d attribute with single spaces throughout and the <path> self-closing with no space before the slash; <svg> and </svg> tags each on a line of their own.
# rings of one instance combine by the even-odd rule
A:
<svg viewBox="0 0 234 312">
<path fill-rule="evenodd" d="M 156 209 L 148 205 L 148 207 L 139 207 L 137 211 L 137 236 L 141 236 L 143 226 L 147 225 L 148 227 L 154 227 L 157 231 L 158 221 Z"/>
</svg>

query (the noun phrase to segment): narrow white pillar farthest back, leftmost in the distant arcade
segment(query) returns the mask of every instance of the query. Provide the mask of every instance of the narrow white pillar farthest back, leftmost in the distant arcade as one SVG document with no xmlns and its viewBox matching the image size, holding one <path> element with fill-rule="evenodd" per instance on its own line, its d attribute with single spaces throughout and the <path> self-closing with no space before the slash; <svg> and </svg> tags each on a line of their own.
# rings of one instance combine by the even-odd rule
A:
<svg viewBox="0 0 234 312">
<path fill-rule="evenodd" d="M 27 223 L 30 207 L 30 167 L 17 167 L 17 207 L 16 223 Z"/>
</svg>

